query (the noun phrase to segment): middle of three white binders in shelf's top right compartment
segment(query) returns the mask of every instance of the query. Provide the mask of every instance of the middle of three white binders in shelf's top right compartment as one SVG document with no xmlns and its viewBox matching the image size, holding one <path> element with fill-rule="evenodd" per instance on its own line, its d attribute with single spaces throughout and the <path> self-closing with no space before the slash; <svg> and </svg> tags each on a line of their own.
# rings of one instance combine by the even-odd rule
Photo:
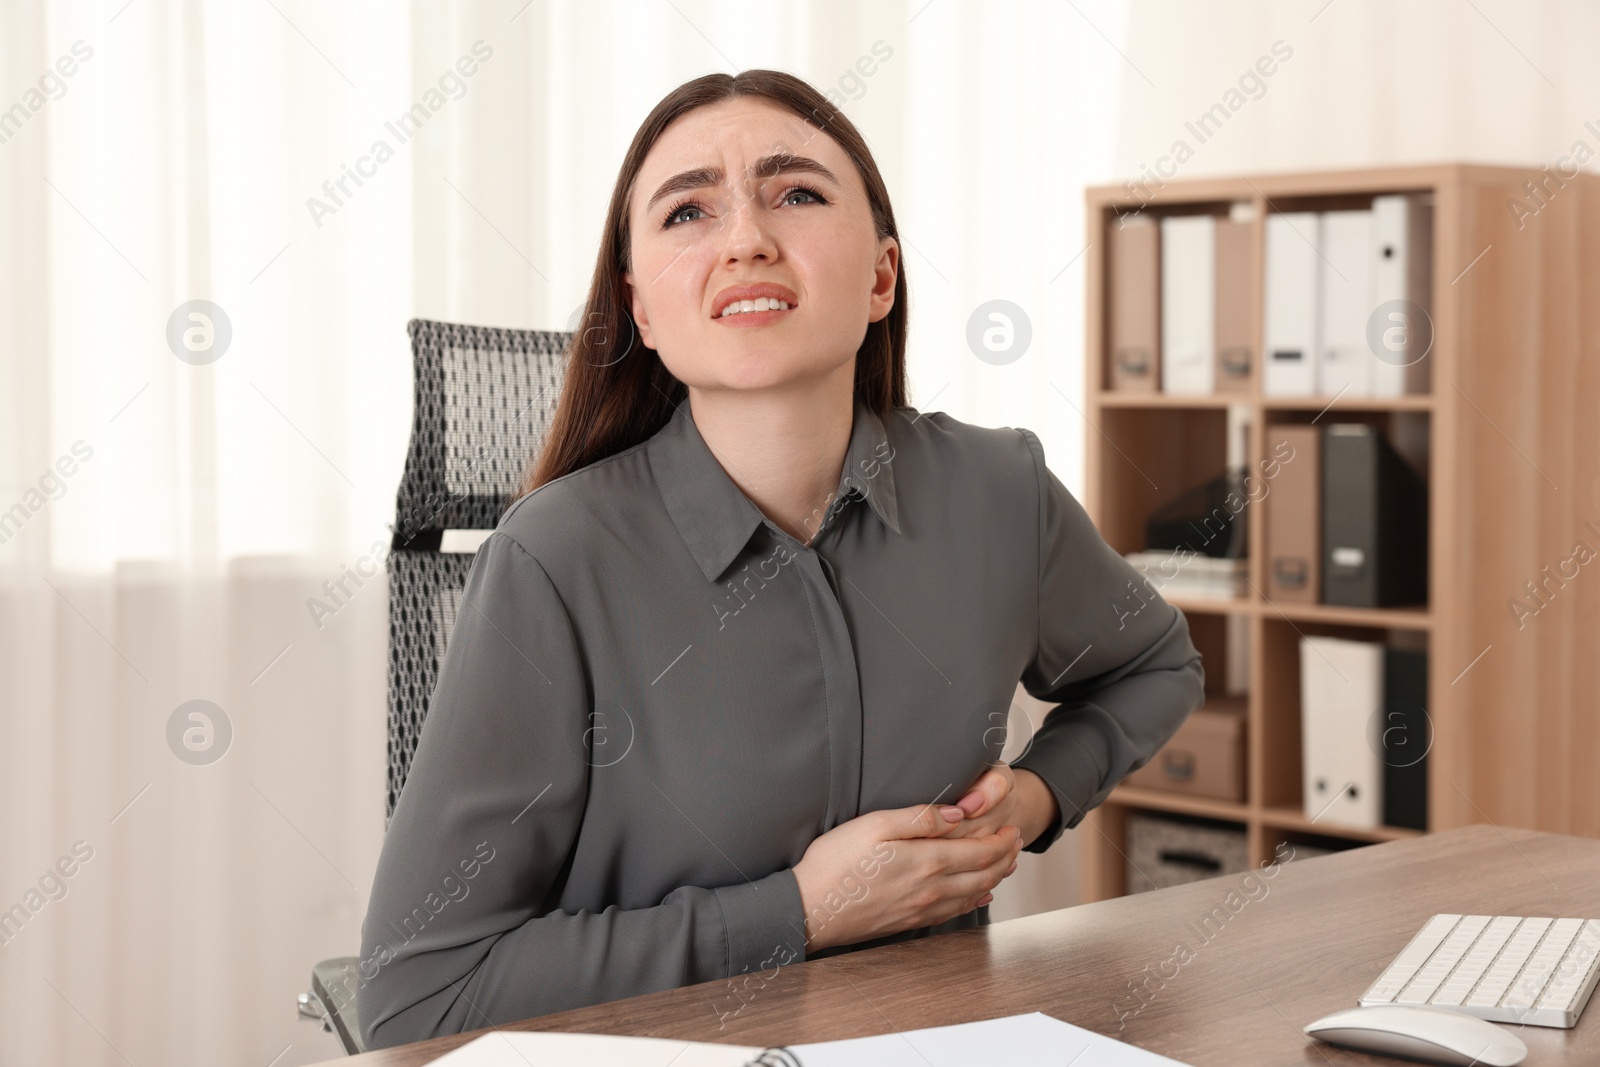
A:
<svg viewBox="0 0 1600 1067">
<path fill-rule="evenodd" d="M 1322 214 L 1322 344 L 1317 392 L 1370 397 L 1373 358 L 1366 320 L 1373 314 L 1373 213 Z"/>
</svg>

